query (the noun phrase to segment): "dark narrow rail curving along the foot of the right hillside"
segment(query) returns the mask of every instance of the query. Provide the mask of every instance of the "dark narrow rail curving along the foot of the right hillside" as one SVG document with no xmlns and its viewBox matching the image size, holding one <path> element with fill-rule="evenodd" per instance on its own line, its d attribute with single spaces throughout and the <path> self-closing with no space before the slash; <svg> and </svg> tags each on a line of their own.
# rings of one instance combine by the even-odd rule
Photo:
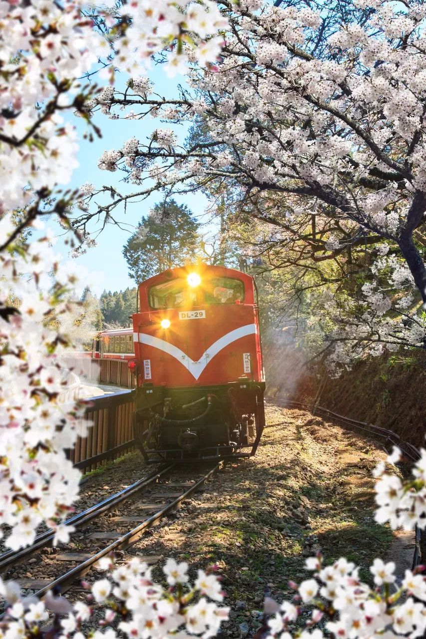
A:
<svg viewBox="0 0 426 639">
<path fill-rule="evenodd" d="M 270 401 L 271 403 L 275 403 L 278 406 L 297 406 L 297 408 L 302 408 L 303 410 L 310 410 L 306 404 L 300 401 L 296 401 L 295 399 L 281 399 L 280 397 L 265 397 L 266 401 Z M 324 408 L 323 406 L 316 406 L 315 413 L 322 414 L 322 417 L 329 417 L 331 419 L 336 420 L 339 424 L 342 424 L 343 427 L 351 426 L 358 428 L 361 431 L 364 431 L 368 435 L 374 435 L 381 439 L 384 439 L 384 448 L 386 449 L 386 444 L 391 442 L 393 445 L 398 446 L 400 450 L 404 453 L 404 455 L 410 459 L 412 462 L 418 461 L 421 458 L 420 450 L 418 450 L 413 444 L 409 442 L 404 442 L 400 438 L 397 433 L 393 433 L 393 431 L 388 428 L 383 428 L 381 426 L 375 426 L 375 424 L 367 424 L 367 422 L 361 422 L 357 419 L 352 419 L 351 417 L 345 417 L 344 415 L 339 415 L 338 413 L 329 410 L 328 408 Z M 416 524 L 414 528 L 415 532 L 415 542 L 414 542 L 414 552 L 413 552 L 413 563 L 411 569 L 414 570 L 416 566 L 420 564 L 422 561 L 422 531 Z"/>
</svg>

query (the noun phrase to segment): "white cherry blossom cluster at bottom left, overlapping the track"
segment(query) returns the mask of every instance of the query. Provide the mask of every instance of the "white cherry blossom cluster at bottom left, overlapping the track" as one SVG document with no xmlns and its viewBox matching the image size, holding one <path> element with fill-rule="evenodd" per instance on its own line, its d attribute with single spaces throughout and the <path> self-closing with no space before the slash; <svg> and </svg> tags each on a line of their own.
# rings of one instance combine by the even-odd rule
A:
<svg viewBox="0 0 426 639">
<path fill-rule="evenodd" d="M 101 564 L 109 567 L 114 560 L 108 558 Z M 0 631 L 3 633 L 5 628 L 5 633 L 1 636 L 12 639 L 26 636 L 28 632 L 31 636 L 37 632 L 37 636 L 61 639 L 84 639 L 86 636 L 154 639 L 189 635 L 202 635 L 207 639 L 216 636 L 221 623 L 228 619 L 229 608 L 209 601 L 196 584 L 189 583 L 187 564 L 169 559 L 167 566 L 164 574 L 168 578 L 171 572 L 175 574 L 169 589 L 152 581 L 151 569 L 135 557 L 116 567 L 106 578 L 96 580 L 87 596 L 88 603 L 77 601 L 74 605 L 63 597 L 55 599 L 51 594 L 43 602 L 28 602 L 20 596 L 17 584 L 0 580 L 0 596 L 7 600 L 9 593 L 14 593 L 13 603 L 9 600 L 6 609 Z M 182 580 L 178 575 L 183 576 Z M 217 581 L 214 574 L 209 574 L 208 578 L 211 582 Z M 43 622 L 51 611 L 56 615 L 45 635 Z M 86 633 L 88 624 L 91 628 Z M 105 626 L 110 627 L 105 630 Z"/>
</svg>

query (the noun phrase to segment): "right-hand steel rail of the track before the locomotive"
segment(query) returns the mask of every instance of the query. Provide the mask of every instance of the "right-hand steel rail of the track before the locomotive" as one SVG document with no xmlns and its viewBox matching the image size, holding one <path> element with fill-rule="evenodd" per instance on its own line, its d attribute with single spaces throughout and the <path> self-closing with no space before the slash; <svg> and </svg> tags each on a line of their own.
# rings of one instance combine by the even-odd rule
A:
<svg viewBox="0 0 426 639">
<path fill-rule="evenodd" d="M 161 518 L 164 517 L 164 515 L 166 515 L 168 512 L 173 511 L 176 507 L 178 507 L 180 502 L 189 497 L 189 495 L 194 493 L 194 491 L 196 491 L 198 488 L 200 488 L 200 486 L 202 486 L 207 481 L 207 479 L 209 479 L 214 473 L 217 472 L 217 470 L 219 470 L 221 464 L 221 461 L 219 461 L 219 463 L 217 463 L 213 468 L 210 468 L 209 472 L 207 472 L 204 477 L 201 477 L 201 479 L 199 479 L 193 486 L 191 486 L 191 488 L 187 489 L 184 493 L 182 493 L 182 495 L 175 498 L 173 502 L 163 506 L 159 511 L 155 512 L 155 514 L 146 518 L 143 523 L 136 526 L 136 528 L 133 528 L 132 530 L 129 530 L 129 532 L 122 535 L 120 539 L 116 539 L 116 541 L 114 541 L 112 544 L 109 544 L 109 546 L 106 546 L 106 548 L 104 548 L 103 550 L 100 550 L 92 557 L 86 559 L 84 562 L 81 562 L 81 564 L 79 564 L 78 566 L 75 566 L 74 568 L 68 570 L 67 573 L 56 578 L 54 581 L 51 581 L 51 583 L 35 592 L 34 596 L 38 599 L 41 599 L 49 590 L 58 587 L 63 590 L 64 587 L 70 585 L 77 577 L 84 576 L 84 574 L 86 574 L 91 569 L 93 564 L 96 564 L 100 560 L 100 558 L 105 557 L 105 555 L 109 555 L 109 553 L 113 552 L 114 550 L 118 550 L 119 548 L 129 548 L 130 546 L 132 546 L 138 541 L 139 537 L 143 535 L 145 530 L 154 525 L 156 521 L 161 520 Z"/>
</svg>

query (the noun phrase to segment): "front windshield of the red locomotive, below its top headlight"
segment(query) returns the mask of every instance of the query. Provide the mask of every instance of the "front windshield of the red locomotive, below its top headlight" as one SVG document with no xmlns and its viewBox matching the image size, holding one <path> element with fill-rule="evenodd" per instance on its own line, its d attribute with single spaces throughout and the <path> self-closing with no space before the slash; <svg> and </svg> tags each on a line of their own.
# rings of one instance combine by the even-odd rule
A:
<svg viewBox="0 0 426 639">
<path fill-rule="evenodd" d="M 242 304 L 244 284 L 233 277 L 212 277 L 199 286 L 189 286 L 178 278 L 152 286 L 148 291 L 152 309 L 178 309 L 205 304 Z"/>
</svg>

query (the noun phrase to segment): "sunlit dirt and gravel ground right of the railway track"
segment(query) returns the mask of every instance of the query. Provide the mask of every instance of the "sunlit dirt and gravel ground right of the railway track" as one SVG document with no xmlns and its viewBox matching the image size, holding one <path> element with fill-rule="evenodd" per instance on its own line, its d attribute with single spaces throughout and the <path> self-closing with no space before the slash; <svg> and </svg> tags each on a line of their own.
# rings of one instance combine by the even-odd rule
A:
<svg viewBox="0 0 426 639">
<path fill-rule="evenodd" d="M 369 580 L 372 560 L 400 548 L 374 521 L 371 472 L 386 457 L 379 445 L 303 410 L 270 404 L 266 412 L 256 457 L 226 463 L 123 557 L 175 557 L 193 574 L 217 564 L 232 609 L 223 636 L 253 636 L 265 594 L 283 599 L 290 578 L 307 578 L 305 557 L 317 551 L 327 563 L 345 555 Z M 404 544 L 409 563 L 409 540 Z M 159 580 L 160 566 L 153 573 Z"/>
</svg>

